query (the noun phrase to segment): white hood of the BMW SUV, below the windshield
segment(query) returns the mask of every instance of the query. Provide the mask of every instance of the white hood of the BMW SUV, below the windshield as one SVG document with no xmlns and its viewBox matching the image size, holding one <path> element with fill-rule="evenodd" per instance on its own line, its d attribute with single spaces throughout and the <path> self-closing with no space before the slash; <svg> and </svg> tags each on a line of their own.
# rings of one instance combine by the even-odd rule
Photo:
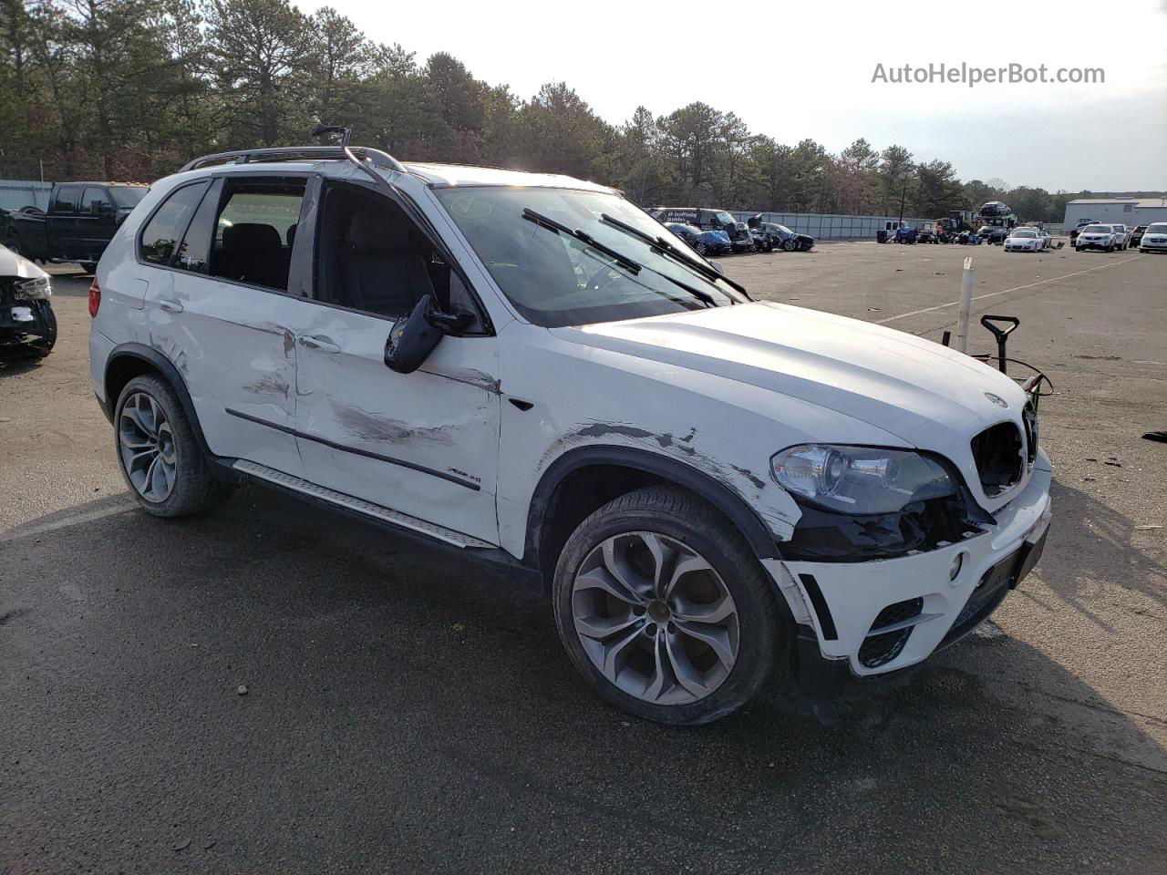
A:
<svg viewBox="0 0 1167 875">
<path fill-rule="evenodd" d="M 1013 420 L 1020 427 L 1026 401 L 1012 379 L 938 343 L 771 302 L 553 332 L 798 398 L 953 461 L 967 456 L 969 441 L 988 426 Z"/>
</svg>

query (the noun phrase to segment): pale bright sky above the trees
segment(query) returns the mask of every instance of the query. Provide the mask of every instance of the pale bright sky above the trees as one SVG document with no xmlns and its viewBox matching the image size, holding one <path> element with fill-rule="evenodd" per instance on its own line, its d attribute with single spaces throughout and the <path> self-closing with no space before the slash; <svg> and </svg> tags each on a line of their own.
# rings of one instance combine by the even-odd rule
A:
<svg viewBox="0 0 1167 875">
<path fill-rule="evenodd" d="M 833 153 L 860 136 L 899 144 L 917 161 L 950 161 L 962 180 L 1167 189 L 1167 0 L 296 5 L 333 6 L 419 63 L 448 51 L 522 98 L 564 80 L 615 125 L 638 105 L 668 114 L 703 100 L 780 142 L 811 138 Z M 873 82 L 878 64 L 890 79 L 904 64 L 942 63 L 1046 64 L 1050 77 L 1102 68 L 1105 82 Z"/>
</svg>

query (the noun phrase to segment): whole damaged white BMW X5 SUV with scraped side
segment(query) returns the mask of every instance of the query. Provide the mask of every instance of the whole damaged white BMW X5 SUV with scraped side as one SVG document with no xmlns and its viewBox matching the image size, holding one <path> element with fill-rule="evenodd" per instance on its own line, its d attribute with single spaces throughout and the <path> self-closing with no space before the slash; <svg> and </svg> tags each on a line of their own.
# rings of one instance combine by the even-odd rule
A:
<svg viewBox="0 0 1167 875">
<path fill-rule="evenodd" d="M 90 293 L 149 513 L 243 482 L 509 568 L 607 700 L 733 712 L 920 663 L 1041 554 L 1026 392 L 911 335 L 755 302 L 619 191 L 229 153 L 156 182 Z"/>
</svg>

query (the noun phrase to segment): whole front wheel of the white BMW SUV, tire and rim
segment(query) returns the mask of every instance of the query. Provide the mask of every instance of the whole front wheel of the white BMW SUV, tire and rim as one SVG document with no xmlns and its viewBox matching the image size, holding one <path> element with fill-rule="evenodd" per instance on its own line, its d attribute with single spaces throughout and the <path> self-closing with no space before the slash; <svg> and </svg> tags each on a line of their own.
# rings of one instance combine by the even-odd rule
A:
<svg viewBox="0 0 1167 875">
<path fill-rule="evenodd" d="M 640 489 L 592 513 L 564 545 L 552 595 L 575 667 L 636 716 L 711 722 L 774 670 L 773 584 L 741 534 L 683 490 Z"/>
</svg>

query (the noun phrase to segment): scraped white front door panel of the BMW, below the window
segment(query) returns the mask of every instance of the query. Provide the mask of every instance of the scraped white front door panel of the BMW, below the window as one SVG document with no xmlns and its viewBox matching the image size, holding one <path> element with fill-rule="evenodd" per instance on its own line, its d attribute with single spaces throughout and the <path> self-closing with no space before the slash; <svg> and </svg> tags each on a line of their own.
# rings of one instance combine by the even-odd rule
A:
<svg viewBox="0 0 1167 875">
<path fill-rule="evenodd" d="M 306 477 L 497 544 L 495 337 L 445 337 L 413 373 L 384 363 L 392 322 L 305 302 L 298 443 Z"/>
</svg>

